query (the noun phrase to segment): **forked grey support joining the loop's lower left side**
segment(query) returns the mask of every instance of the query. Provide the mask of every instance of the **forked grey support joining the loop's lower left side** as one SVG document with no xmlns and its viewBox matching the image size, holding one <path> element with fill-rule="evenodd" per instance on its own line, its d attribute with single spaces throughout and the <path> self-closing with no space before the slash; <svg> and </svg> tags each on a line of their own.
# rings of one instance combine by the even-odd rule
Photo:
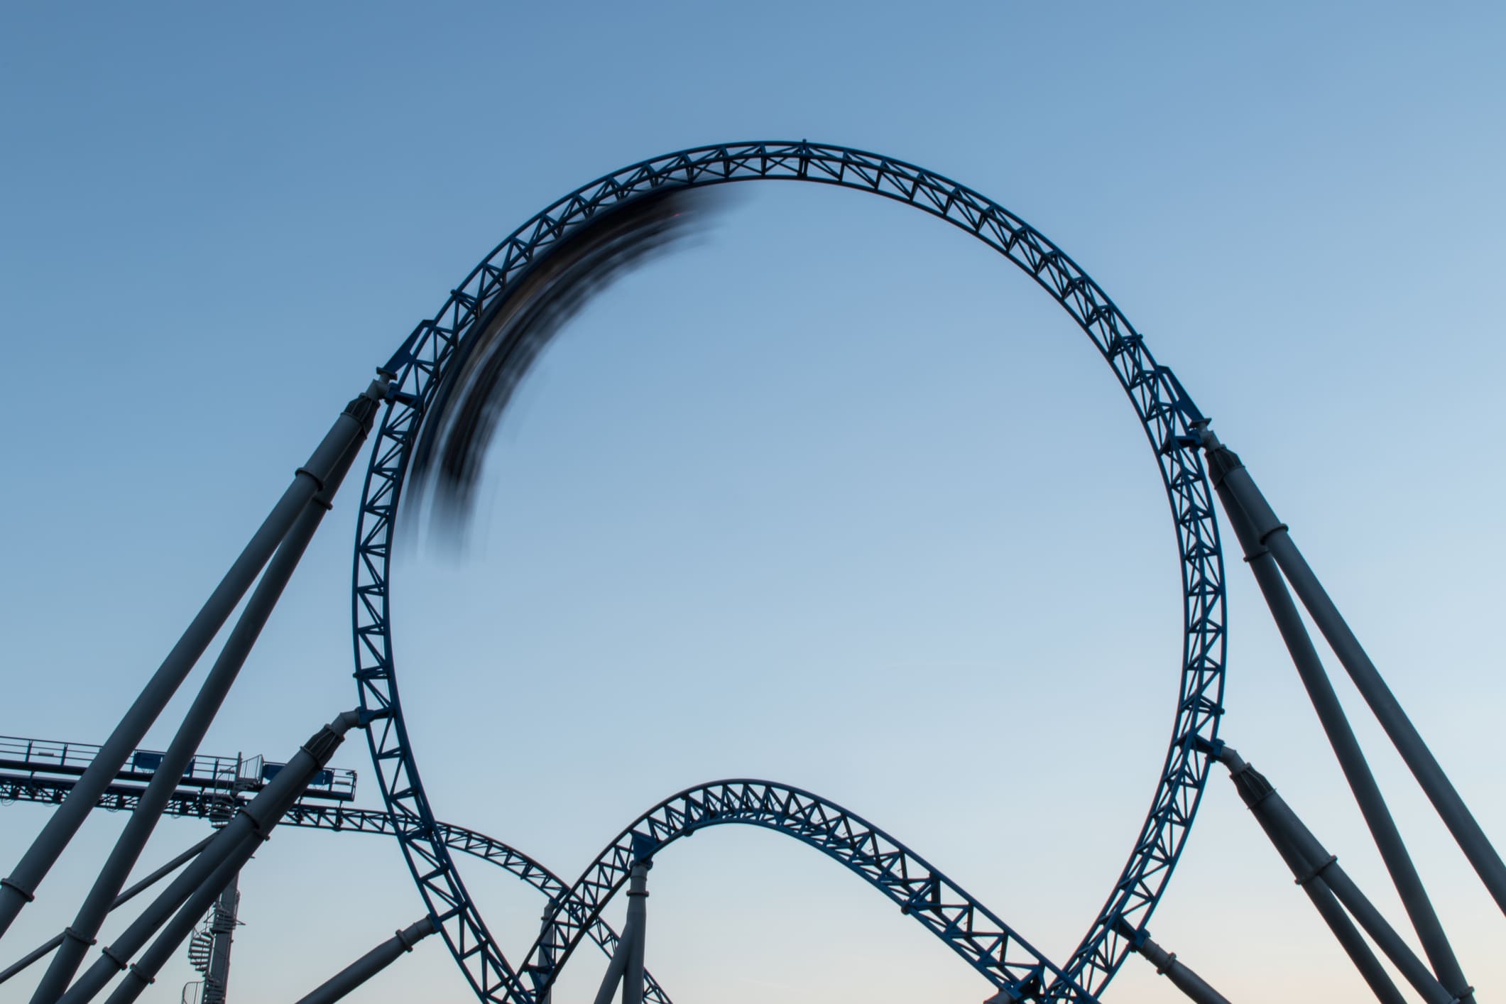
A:
<svg viewBox="0 0 1506 1004">
<path fill-rule="evenodd" d="M 193 930 L 209 903 L 224 890 L 241 866 L 256 852 L 267 834 L 292 807 L 313 775 L 324 769 L 345 739 L 345 733 L 366 718 L 358 710 L 339 715 L 315 733 L 288 765 L 277 772 L 256 798 L 239 807 L 229 823 L 214 835 L 209 846 L 116 938 L 101 951 L 101 957 L 84 971 L 78 981 L 60 998 L 60 1004 L 83 1004 L 104 989 L 131 957 L 146 945 L 160 927 L 152 947 L 142 960 L 130 966 L 127 980 L 110 995 L 110 1001 L 130 1001 L 155 978 L 157 969 Z M 51 1004 L 48 1001 L 47 1004 Z"/>
</svg>

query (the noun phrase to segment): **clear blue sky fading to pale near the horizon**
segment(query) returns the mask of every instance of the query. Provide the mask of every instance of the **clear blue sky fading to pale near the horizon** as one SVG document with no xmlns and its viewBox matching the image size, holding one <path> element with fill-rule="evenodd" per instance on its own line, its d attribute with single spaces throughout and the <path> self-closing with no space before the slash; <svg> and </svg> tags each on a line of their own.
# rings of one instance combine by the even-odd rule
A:
<svg viewBox="0 0 1506 1004">
<path fill-rule="evenodd" d="M 8 6 L 0 733 L 102 739 L 372 366 L 514 226 L 640 158 L 809 137 L 983 191 L 1108 291 L 1506 841 L 1506 17 L 1318 6 Z M 1063 960 L 1173 707 L 1145 440 L 1086 339 L 964 235 L 854 193 L 744 196 L 547 354 L 473 549 L 401 557 L 435 808 L 574 876 L 661 796 L 770 777 Z M 357 491 L 208 751 L 286 759 L 354 703 Z M 1399 918 L 1236 560 L 1230 617 L 1224 736 Z M 1467 975 L 1498 993 L 1506 921 L 1351 709 Z M 337 763 L 375 804 L 361 744 Z M 0 867 L 44 817 L 0 813 Z M 122 822 L 90 820 L 0 962 L 72 917 Z M 164 823 L 143 861 L 199 835 Z M 515 956 L 542 902 L 462 867 Z M 649 968 L 678 1001 L 988 995 L 770 834 L 676 846 L 652 888 Z M 376 837 L 279 832 L 242 890 L 242 1001 L 295 999 L 422 911 Z M 1152 930 L 1235 1001 L 1364 996 L 1221 775 Z M 560 1004 L 589 999 L 581 962 Z M 190 977 L 179 957 L 146 999 Z M 1108 999 L 1173 993 L 1131 959 Z M 431 941 L 351 999 L 467 996 Z"/>
</svg>

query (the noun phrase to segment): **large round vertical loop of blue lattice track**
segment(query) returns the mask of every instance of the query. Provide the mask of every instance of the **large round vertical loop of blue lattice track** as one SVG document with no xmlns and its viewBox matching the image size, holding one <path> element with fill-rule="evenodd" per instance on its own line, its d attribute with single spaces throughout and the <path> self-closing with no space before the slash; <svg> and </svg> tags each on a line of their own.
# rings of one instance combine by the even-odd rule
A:
<svg viewBox="0 0 1506 1004">
<path fill-rule="evenodd" d="M 1166 888 L 1208 778 L 1209 760 L 1202 750 L 1215 739 L 1218 729 L 1224 671 L 1224 570 L 1212 491 L 1196 452 L 1194 423 L 1200 421 L 1200 415 L 1172 372 L 1154 360 L 1107 294 L 1033 227 L 998 203 L 934 172 L 839 146 L 807 141 L 705 146 L 599 178 L 557 200 L 508 236 L 450 294 L 431 321 L 419 324 L 389 363 L 387 369 L 396 375 L 396 393 L 383 417 L 366 474 L 355 539 L 352 607 L 361 706 L 390 712 L 375 721 L 367 735 L 383 796 L 410 870 L 477 996 L 482 1001 L 532 1004 L 544 983 L 538 972 L 532 974 L 535 978 L 521 978 L 488 933 L 438 834 L 402 720 L 392 646 L 390 558 L 404 476 L 425 408 L 461 343 L 485 328 L 530 265 L 575 227 L 596 212 L 648 191 L 742 181 L 800 181 L 867 191 L 911 205 L 974 235 L 1030 275 L 1068 312 L 1111 367 L 1145 429 L 1172 509 L 1182 572 L 1184 626 L 1181 688 L 1149 813 L 1102 909 L 1065 965 L 1053 966 L 992 914 L 979 912 L 976 906 L 970 906 L 967 915 L 997 926 L 989 935 L 994 941 L 979 941 L 967 951 L 962 948 L 965 939 L 955 944 L 964 954 L 974 951 L 977 959 L 997 956 L 997 965 L 983 966 L 985 974 L 992 974 L 989 978 L 1012 992 L 1029 989 L 1029 996 L 1041 999 L 1093 999 L 1131 950 L 1120 929 L 1125 924 L 1131 929 L 1143 926 Z M 792 793 L 792 789 L 770 790 Z M 929 873 L 929 866 L 926 870 Z M 958 891 L 940 875 L 935 875 L 935 888 L 946 896 Z M 946 914 L 922 911 L 920 917 L 935 917 L 940 923 Z M 1006 957 L 1005 948 L 1015 954 Z M 1044 974 L 1039 993 L 1021 983 L 1030 978 L 1029 974 Z"/>
</svg>

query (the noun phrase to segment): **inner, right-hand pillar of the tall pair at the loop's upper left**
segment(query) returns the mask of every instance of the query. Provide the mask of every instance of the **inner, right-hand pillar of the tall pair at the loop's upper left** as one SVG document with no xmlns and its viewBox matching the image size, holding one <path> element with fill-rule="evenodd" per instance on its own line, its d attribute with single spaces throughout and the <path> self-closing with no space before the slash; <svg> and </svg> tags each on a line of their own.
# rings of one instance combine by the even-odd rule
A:
<svg viewBox="0 0 1506 1004">
<path fill-rule="evenodd" d="M 357 397 L 357 402 L 360 400 L 367 399 Z M 370 408 L 375 409 L 375 400 L 370 400 Z M 277 554 L 267 564 L 267 572 L 252 592 L 245 610 L 230 631 L 230 637 L 226 638 L 224 647 L 220 650 L 218 658 L 215 658 L 214 667 L 199 688 L 199 694 L 194 697 L 188 712 L 184 715 L 182 724 L 173 735 L 172 742 L 167 744 L 163 762 L 152 772 L 151 783 L 131 811 L 125 829 L 116 838 L 104 867 L 95 876 L 93 887 L 90 887 L 89 894 L 78 908 L 74 923 L 69 924 L 68 930 L 72 933 L 68 935 L 53 957 L 47 975 L 38 984 L 36 993 L 32 996 L 33 1004 L 47 1004 L 68 989 L 69 980 L 78 971 L 78 965 L 89 953 L 89 945 L 93 944 L 101 924 L 104 924 L 110 900 L 120 890 L 125 876 L 136 866 L 136 859 L 157 828 L 163 810 L 178 789 L 184 771 L 188 768 L 190 760 L 193 760 L 194 753 L 199 750 L 199 744 L 214 723 L 214 716 L 220 712 L 220 706 L 230 692 L 230 686 L 235 683 L 241 667 L 245 665 L 245 658 L 252 653 L 252 646 L 256 644 L 262 628 L 267 626 L 267 620 L 277 607 L 283 589 L 298 567 L 298 561 L 303 558 L 309 542 L 324 519 L 324 513 L 328 512 L 330 500 L 340 486 L 340 480 L 360 453 L 364 438 L 364 431 L 360 435 L 352 435 L 345 443 L 343 453 L 334 458 L 328 470 L 322 471 L 321 488 L 313 495 L 312 504 L 304 506 L 304 510 L 283 539 L 282 546 L 277 548 Z M 205 984 L 205 990 L 208 993 L 208 984 Z M 215 1004 L 215 1001 L 205 1001 L 205 1004 Z"/>
</svg>

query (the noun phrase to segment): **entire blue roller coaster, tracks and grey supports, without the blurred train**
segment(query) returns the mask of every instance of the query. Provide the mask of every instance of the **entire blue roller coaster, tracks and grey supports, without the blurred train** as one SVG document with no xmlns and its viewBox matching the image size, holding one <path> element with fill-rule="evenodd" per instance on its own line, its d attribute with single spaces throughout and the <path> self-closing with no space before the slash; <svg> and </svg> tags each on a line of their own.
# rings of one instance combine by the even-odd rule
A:
<svg viewBox="0 0 1506 1004">
<path fill-rule="evenodd" d="M 1167 751 L 1145 822 L 1102 908 L 1060 963 L 1047 959 L 1014 926 L 896 837 L 812 792 L 774 781 L 720 780 L 678 792 L 623 828 L 572 882 L 498 840 L 440 822 L 425 792 L 398 689 L 389 593 L 398 516 L 405 486 L 411 491 L 414 465 L 422 462 L 417 455 L 425 423 L 432 429 L 446 420 L 453 373 L 473 366 L 474 346 L 495 340 L 497 331 L 517 318 L 524 291 L 530 283 L 538 284 L 542 269 L 551 262 L 592 262 L 586 235 L 599 235 L 598 224 L 620 220 L 613 214 L 669 193 L 750 181 L 866 191 L 973 235 L 1024 271 L 1081 328 L 1114 373 L 1145 432 L 1166 488 L 1181 567 L 1178 700 L 1170 709 Z M 529 355 L 536 346 L 515 345 L 508 351 Z M 247 768 L 239 759 L 200 754 L 199 744 L 367 438 L 372 447 L 357 515 L 352 575 L 355 707 L 315 733 L 286 763 L 256 762 Z M 1218 736 L 1226 665 L 1218 507 L 1379 849 L 1422 947 L 1420 956 L 1274 787 Z M 242 599 L 244 608 L 167 750 L 142 750 L 146 730 Z M 277 825 L 294 825 L 395 837 L 425 906 L 420 921 L 336 974 L 306 1002 L 339 999 L 432 933 L 440 935 L 483 1002 L 548 1001 L 560 971 L 587 939 L 610 957 L 598 1004 L 608 1004 L 619 987 L 623 1004 L 667 1002 L 664 989 L 645 969 L 648 872 L 681 837 L 708 826 L 745 825 L 792 837 L 864 879 L 890 906 L 898 906 L 973 966 L 994 989 L 992 1002 L 1107 999 L 1110 981 L 1131 954 L 1149 959 L 1188 998 L 1218 1002 L 1226 998 L 1161 948 L 1148 926 L 1187 844 L 1214 765 L 1221 763 L 1378 999 L 1408 999 L 1393 978 L 1395 971 L 1420 999 L 1473 1001 L 1473 987 L 1402 843 L 1298 604 L 1489 894 L 1506 911 L 1506 866 L 1298 551 L 1286 524 L 1239 458 L 1214 435 L 1211 421 L 1172 370 L 1152 357 L 1123 313 L 1065 251 L 977 191 L 870 152 L 806 140 L 755 141 L 640 161 L 571 191 L 514 230 L 376 367 L 376 378 L 349 402 L 297 470 L 273 512 L 105 742 L 87 747 L 86 756 L 75 750 L 74 760 L 63 751 L 53 763 L 53 753 L 38 751 L 51 750 L 48 744 L 20 751 L 18 745 L 0 741 L 0 798 L 56 804 L 21 861 L 0 879 L 0 938 L 35 899 L 93 808 L 130 811 L 74 921 L 48 945 L 0 974 L 0 980 L 50 953 L 30 998 L 33 1004 L 83 1004 L 104 992 L 110 1004 L 136 999 L 166 959 L 194 938 L 200 918 L 229 909 L 236 876 L 261 841 Z M 366 735 L 383 811 L 352 808 L 342 793 L 348 772 L 328 766 L 352 729 Z M 354 792 L 354 775 L 348 777 L 348 790 Z M 104 917 L 131 899 L 125 893 L 136 896 L 145 888 L 139 882 L 125 890 L 125 884 L 164 814 L 209 819 L 215 829 L 191 853 L 170 863 L 172 869 L 158 869 L 154 882 L 173 872 L 176 878 L 119 938 L 93 950 Z M 497 864 L 547 897 L 542 930 L 533 945 L 511 959 L 503 953 L 467 891 L 455 852 Z M 630 906 L 619 933 L 602 921 L 602 911 L 622 890 Z M 226 992 L 223 971 L 211 983 L 205 1002 L 217 1004 Z"/>
</svg>

